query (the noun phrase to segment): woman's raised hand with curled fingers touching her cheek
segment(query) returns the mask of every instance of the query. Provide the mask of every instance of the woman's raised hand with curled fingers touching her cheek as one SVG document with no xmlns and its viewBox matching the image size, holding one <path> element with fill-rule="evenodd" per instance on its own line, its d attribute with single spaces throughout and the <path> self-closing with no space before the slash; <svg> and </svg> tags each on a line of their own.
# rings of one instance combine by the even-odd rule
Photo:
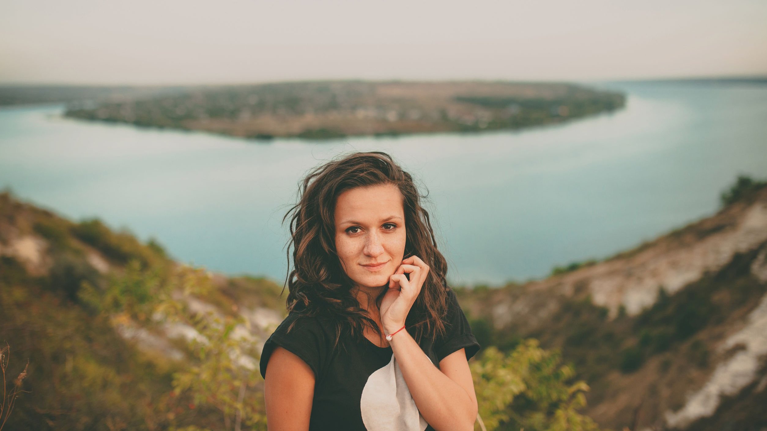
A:
<svg viewBox="0 0 767 431">
<path fill-rule="evenodd" d="M 407 279 L 405 274 L 410 276 Z M 420 294 L 429 266 L 418 256 L 410 256 L 402 260 L 402 265 L 389 277 L 389 291 L 381 301 L 381 324 L 386 334 L 391 334 L 405 324 L 407 314 Z"/>
</svg>

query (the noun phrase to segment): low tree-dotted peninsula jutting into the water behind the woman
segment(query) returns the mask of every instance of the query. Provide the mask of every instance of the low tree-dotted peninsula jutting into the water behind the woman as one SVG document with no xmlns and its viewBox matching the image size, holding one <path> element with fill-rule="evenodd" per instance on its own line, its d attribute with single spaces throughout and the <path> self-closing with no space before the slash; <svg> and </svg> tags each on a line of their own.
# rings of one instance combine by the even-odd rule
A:
<svg viewBox="0 0 767 431">
<path fill-rule="evenodd" d="M 317 140 L 513 130 L 624 104 L 624 94 L 567 83 L 309 81 L 186 87 L 151 97 L 75 102 L 65 116 L 258 140 Z"/>
</svg>

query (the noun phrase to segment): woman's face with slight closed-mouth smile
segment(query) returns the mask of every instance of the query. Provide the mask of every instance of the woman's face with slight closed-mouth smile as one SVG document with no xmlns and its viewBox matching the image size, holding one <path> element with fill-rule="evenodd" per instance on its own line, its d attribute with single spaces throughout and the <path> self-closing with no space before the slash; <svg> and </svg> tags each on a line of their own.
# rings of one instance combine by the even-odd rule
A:
<svg viewBox="0 0 767 431">
<path fill-rule="evenodd" d="M 393 184 L 357 187 L 338 195 L 336 252 L 357 287 L 386 285 L 402 264 L 407 239 L 402 201 Z"/>
</svg>

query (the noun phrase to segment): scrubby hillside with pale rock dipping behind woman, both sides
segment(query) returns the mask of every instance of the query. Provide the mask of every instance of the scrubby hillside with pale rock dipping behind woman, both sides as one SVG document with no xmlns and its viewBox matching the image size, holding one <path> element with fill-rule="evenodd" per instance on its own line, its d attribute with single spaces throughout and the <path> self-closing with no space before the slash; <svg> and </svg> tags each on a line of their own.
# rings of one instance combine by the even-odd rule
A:
<svg viewBox="0 0 767 431">
<path fill-rule="evenodd" d="M 611 258 L 457 288 L 485 429 L 767 426 L 767 187 L 722 201 Z M 280 292 L 0 193 L 0 429 L 265 429 Z"/>
</svg>

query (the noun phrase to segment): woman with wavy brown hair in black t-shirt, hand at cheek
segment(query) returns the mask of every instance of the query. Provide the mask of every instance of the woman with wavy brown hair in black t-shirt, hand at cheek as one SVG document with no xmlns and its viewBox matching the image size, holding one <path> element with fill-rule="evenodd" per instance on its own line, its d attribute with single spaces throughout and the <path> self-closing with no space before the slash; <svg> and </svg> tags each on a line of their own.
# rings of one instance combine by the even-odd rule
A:
<svg viewBox="0 0 767 431">
<path fill-rule="evenodd" d="M 473 429 L 479 344 L 410 174 L 354 153 L 299 194 L 289 313 L 261 357 L 268 428 Z"/>
</svg>

